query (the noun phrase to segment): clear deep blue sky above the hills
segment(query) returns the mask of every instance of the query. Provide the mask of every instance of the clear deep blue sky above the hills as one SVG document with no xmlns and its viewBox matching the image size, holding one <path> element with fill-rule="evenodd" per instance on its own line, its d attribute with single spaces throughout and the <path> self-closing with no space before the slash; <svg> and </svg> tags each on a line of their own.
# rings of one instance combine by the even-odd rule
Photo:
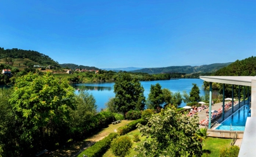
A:
<svg viewBox="0 0 256 157">
<path fill-rule="evenodd" d="M 98 68 L 256 56 L 256 1 L 0 0 L 0 47 Z"/>
</svg>

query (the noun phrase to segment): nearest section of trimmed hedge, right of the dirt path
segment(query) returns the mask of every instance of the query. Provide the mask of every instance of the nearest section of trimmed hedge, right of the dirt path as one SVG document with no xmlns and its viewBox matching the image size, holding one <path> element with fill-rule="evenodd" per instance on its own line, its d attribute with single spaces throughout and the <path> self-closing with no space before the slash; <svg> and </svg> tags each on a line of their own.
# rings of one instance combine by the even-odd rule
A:
<svg viewBox="0 0 256 157">
<path fill-rule="evenodd" d="M 101 141 L 96 142 L 93 146 L 87 148 L 85 151 L 79 154 L 79 157 L 83 157 L 85 154 L 87 157 L 102 156 L 110 148 L 111 141 L 117 137 L 117 133 L 112 132 Z"/>
</svg>

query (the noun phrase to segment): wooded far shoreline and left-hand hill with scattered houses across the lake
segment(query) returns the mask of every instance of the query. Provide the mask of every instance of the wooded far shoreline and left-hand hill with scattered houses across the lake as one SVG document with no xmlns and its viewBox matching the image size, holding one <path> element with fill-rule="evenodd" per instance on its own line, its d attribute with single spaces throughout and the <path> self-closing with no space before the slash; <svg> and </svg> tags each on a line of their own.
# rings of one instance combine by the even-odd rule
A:
<svg viewBox="0 0 256 157">
<path fill-rule="evenodd" d="M 229 63 L 228 63 L 229 64 Z M 223 65 L 228 65 L 224 63 Z M 222 66 L 223 66 L 222 65 Z M 65 67 L 61 67 L 65 66 Z M 70 67 L 69 67 L 70 66 Z M 58 78 L 67 78 L 70 83 L 91 83 L 91 82 L 115 82 L 118 73 L 129 73 L 132 78 L 138 78 L 140 81 L 151 80 L 169 80 L 170 78 L 199 78 L 200 75 L 210 75 L 207 69 L 218 68 L 219 64 L 203 65 L 200 68 L 203 72 L 184 73 L 177 72 L 177 70 L 163 71 L 161 73 L 149 74 L 144 72 L 113 72 L 112 70 L 101 70 L 94 66 L 82 66 L 75 64 L 62 64 L 58 61 L 52 60 L 49 56 L 39 53 L 37 51 L 23 50 L 23 49 L 4 49 L 0 47 L 0 70 L 10 69 L 11 76 L 0 75 L 0 84 L 14 85 L 15 79 L 26 75 L 29 72 L 43 74 L 51 72 Z M 77 71 L 75 68 L 79 68 Z M 86 68 L 87 72 L 80 72 L 82 68 Z M 182 71 L 182 66 L 178 67 Z M 71 70 L 71 74 L 66 73 Z M 89 70 L 93 70 L 89 72 Z M 98 70 L 98 73 L 95 71 Z M 205 71 L 206 70 L 206 71 Z"/>
</svg>

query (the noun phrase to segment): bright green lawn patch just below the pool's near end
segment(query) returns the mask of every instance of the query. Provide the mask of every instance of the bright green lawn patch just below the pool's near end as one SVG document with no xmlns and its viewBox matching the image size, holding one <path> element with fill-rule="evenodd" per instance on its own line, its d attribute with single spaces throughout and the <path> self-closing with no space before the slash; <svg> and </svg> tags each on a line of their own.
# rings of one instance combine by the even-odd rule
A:
<svg viewBox="0 0 256 157">
<path fill-rule="evenodd" d="M 204 141 L 203 152 L 208 153 L 209 156 L 219 156 L 222 148 L 228 148 L 230 146 L 231 139 L 222 139 L 215 137 L 208 137 Z"/>
</svg>

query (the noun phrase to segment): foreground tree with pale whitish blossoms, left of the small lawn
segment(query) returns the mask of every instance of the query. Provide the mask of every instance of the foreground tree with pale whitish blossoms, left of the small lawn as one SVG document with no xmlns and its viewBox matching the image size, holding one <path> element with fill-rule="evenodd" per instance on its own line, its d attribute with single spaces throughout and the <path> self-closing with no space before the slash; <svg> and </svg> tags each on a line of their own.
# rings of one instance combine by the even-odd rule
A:
<svg viewBox="0 0 256 157">
<path fill-rule="evenodd" d="M 182 115 L 174 106 L 152 115 L 146 125 L 139 123 L 138 129 L 147 138 L 135 148 L 138 156 L 186 156 L 186 151 L 202 154 L 202 142 L 196 137 L 198 116 Z"/>
</svg>

